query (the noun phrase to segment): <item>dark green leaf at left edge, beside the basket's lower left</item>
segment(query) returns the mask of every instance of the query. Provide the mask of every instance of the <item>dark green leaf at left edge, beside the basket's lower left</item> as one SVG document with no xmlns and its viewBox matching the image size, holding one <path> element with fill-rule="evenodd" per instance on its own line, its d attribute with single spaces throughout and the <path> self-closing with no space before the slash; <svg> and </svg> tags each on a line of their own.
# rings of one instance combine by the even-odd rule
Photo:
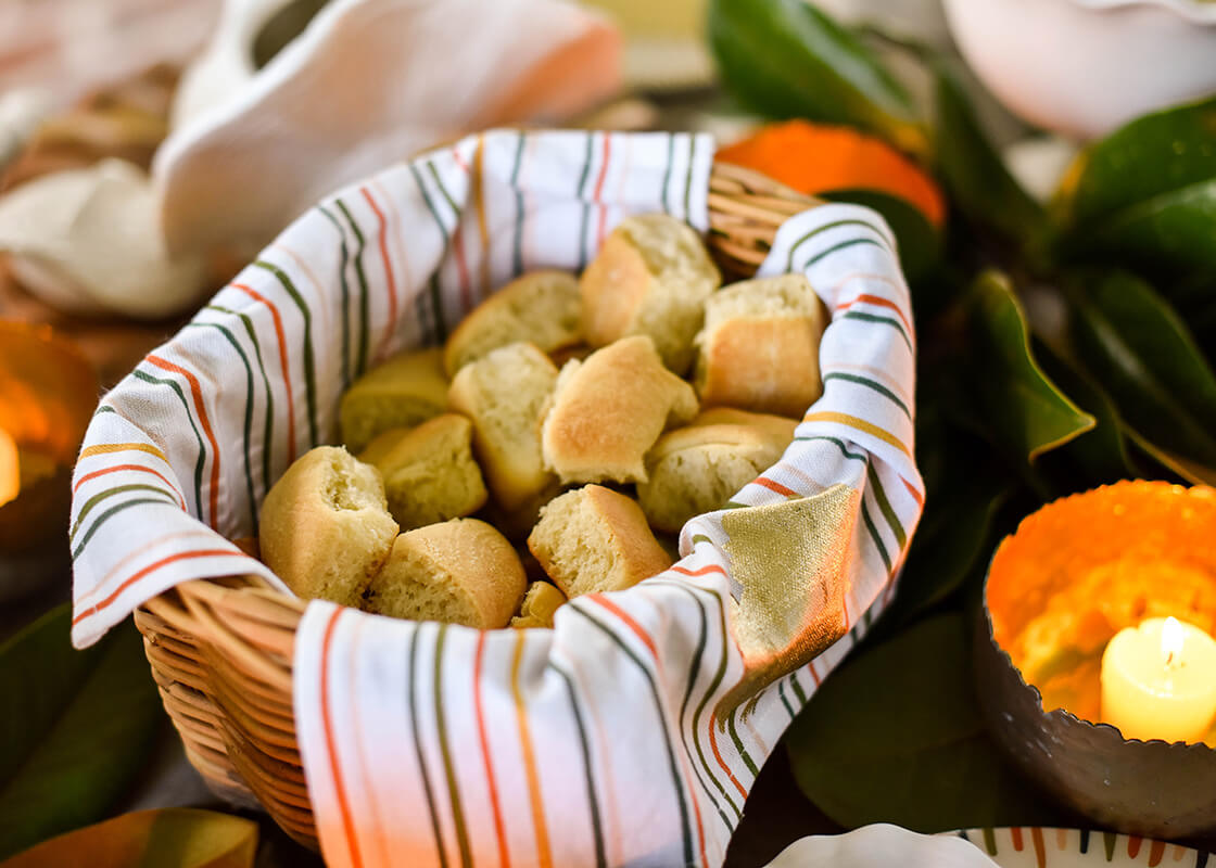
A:
<svg viewBox="0 0 1216 868">
<path fill-rule="evenodd" d="M 0 647 L 0 858 L 105 816 L 164 723 L 134 625 L 74 650 L 60 607 Z"/>
</svg>

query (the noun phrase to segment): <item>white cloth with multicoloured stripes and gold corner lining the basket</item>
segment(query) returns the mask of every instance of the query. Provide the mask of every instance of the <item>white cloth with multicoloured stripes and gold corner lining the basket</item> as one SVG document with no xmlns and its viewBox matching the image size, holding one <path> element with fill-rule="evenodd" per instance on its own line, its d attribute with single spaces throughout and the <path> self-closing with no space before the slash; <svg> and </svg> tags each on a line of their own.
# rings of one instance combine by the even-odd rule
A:
<svg viewBox="0 0 1216 868">
<path fill-rule="evenodd" d="M 627 214 L 705 231 L 713 156 L 703 135 L 495 130 L 304 214 L 102 399 L 73 481 L 74 644 L 182 581 L 282 588 L 229 539 L 333 441 L 347 385 L 514 275 L 582 269 Z M 832 312 L 823 398 L 778 464 L 683 528 L 671 569 L 576 598 L 552 631 L 309 604 L 293 701 L 330 864 L 722 862 L 766 756 L 890 599 L 923 507 L 890 230 L 804 212 L 759 274 L 794 271 Z"/>
</svg>

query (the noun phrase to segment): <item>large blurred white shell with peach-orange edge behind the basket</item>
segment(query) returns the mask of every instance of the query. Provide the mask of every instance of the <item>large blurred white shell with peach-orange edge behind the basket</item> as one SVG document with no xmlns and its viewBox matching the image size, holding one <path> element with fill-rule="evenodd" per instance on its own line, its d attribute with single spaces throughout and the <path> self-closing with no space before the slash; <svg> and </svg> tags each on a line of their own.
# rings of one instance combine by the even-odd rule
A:
<svg viewBox="0 0 1216 868">
<path fill-rule="evenodd" d="M 322 196 L 381 167 L 475 129 L 564 120 L 620 88 L 615 28 L 564 0 L 333 0 L 241 79 L 231 58 L 250 57 L 244 18 L 265 5 L 229 0 L 198 67 L 203 78 L 232 75 L 210 85 L 230 96 L 157 153 L 175 254 L 252 254 Z M 193 100 L 207 81 L 187 71 L 185 86 Z"/>
</svg>

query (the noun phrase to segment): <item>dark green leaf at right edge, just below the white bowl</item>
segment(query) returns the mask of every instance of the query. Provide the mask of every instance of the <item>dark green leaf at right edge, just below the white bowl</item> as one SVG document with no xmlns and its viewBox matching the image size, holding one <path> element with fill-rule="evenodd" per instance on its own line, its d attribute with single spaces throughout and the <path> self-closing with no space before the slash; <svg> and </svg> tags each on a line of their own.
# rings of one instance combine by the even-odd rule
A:
<svg viewBox="0 0 1216 868">
<path fill-rule="evenodd" d="M 1064 222 L 1093 225 L 1216 179 L 1216 97 L 1132 120 L 1077 158 L 1057 207 Z"/>
</svg>

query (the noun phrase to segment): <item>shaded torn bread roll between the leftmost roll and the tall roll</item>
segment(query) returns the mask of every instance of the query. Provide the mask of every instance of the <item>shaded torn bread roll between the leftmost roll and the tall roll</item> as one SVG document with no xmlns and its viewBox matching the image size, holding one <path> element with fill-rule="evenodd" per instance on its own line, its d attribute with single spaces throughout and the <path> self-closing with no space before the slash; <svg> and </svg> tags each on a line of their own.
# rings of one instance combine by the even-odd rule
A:
<svg viewBox="0 0 1216 868">
<path fill-rule="evenodd" d="M 392 428 L 364 450 L 360 460 L 384 477 L 388 509 L 401 530 L 482 508 L 486 491 L 473 461 L 472 440 L 467 418 L 444 413 L 417 428 Z"/>
</svg>

